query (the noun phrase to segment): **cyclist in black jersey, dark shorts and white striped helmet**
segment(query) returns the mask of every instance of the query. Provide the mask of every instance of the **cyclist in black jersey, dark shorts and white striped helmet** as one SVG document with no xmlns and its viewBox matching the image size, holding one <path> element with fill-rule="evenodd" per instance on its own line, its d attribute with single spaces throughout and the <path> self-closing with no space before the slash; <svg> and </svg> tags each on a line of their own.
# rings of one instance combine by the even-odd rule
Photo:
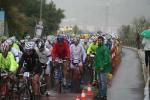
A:
<svg viewBox="0 0 150 100">
<path fill-rule="evenodd" d="M 40 92 L 39 92 L 39 80 L 40 80 L 40 74 L 42 73 L 42 67 L 40 66 L 39 57 L 34 49 L 34 42 L 26 42 L 21 60 L 19 62 L 20 65 L 20 72 L 22 69 L 27 72 L 33 73 L 33 79 L 32 79 L 32 88 L 34 93 L 34 98 L 39 98 Z M 26 63 L 26 64 L 25 64 Z M 25 64 L 25 68 L 23 65 Z"/>
</svg>

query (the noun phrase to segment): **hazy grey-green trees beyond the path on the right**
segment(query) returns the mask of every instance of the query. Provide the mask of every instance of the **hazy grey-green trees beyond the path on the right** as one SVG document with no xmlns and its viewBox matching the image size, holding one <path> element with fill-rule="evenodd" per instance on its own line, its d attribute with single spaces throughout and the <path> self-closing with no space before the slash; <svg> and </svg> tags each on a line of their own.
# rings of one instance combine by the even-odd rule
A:
<svg viewBox="0 0 150 100">
<path fill-rule="evenodd" d="M 133 22 L 129 25 L 122 25 L 118 29 L 118 33 L 120 34 L 120 39 L 123 42 L 127 42 L 131 45 L 134 43 L 137 48 L 141 48 L 141 40 L 142 37 L 140 33 L 145 29 L 148 29 L 150 26 L 150 19 L 146 17 L 135 18 Z"/>
</svg>

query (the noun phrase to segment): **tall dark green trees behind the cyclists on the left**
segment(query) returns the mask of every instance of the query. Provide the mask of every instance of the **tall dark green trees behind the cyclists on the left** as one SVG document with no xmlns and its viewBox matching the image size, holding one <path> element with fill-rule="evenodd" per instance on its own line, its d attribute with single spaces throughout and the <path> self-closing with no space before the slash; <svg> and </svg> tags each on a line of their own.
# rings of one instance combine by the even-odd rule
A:
<svg viewBox="0 0 150 100">
<path fill-rule="evenodd" d="M 24 33 L 33 35 L 35 25 L 40 18 L 41 0 L 0 0 L 0 8 L 5 11 L 5 25 L 9 35 L 23 36 Z M 42 0 L 42 21 L 44 34 L 48 35 L 59 28 L 65 17 L 64 10 L 56 8 L 54 2 Z"/>
</svg>

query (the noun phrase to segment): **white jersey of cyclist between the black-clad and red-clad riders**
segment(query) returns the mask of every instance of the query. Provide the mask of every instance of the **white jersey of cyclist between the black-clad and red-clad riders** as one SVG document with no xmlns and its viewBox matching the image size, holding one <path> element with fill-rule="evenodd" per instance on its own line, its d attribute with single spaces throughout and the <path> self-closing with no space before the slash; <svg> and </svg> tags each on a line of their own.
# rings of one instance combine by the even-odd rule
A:
<svg viewBox="0 0 150 100">
<path fill-rule="evenodd" d="M 42 52 L 39 51 L 39 49 L 36 47 L 35 48 L 37 54 L 38 54 L 38 57 L 39 57 L 39 60 L 41 63 L 44 63 L 44 64 L 48 64 L 49 62 L 49 57 L 50 57 L 50 51 L 47 49 L 47 48 L 44 48 L 44 50 Z"/>
</svg>

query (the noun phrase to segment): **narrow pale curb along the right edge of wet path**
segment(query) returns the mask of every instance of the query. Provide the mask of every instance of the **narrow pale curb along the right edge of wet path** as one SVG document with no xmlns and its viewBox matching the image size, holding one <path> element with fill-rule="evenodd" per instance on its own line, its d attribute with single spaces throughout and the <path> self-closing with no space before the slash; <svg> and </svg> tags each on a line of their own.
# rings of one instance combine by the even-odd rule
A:
<svg viewBox="0 0 150 100">
<path fill-rule="evenodd" d="M 144 82 L 146 84 L 147 82 L 147 73 L 146 73 L 146 69 L 145 69 L 145 61 L 144 61 L 144 57 L 141 55 L 141 50 L 138 50 L 137 48 L 133 48 L 133 47 L 127 47 L 127 46 L 122 46 L 123 48 L 127 48 L 127 49 L 131 49 L 133 51 L 136 51 L 137 54 L 138 54 L 138 57 L 140 59 L 140 62 L 141 62 L 141 65 L 142 65 L 142 73 L 143 73 L 143 76 L 144 76 Z"/>
</svg>

